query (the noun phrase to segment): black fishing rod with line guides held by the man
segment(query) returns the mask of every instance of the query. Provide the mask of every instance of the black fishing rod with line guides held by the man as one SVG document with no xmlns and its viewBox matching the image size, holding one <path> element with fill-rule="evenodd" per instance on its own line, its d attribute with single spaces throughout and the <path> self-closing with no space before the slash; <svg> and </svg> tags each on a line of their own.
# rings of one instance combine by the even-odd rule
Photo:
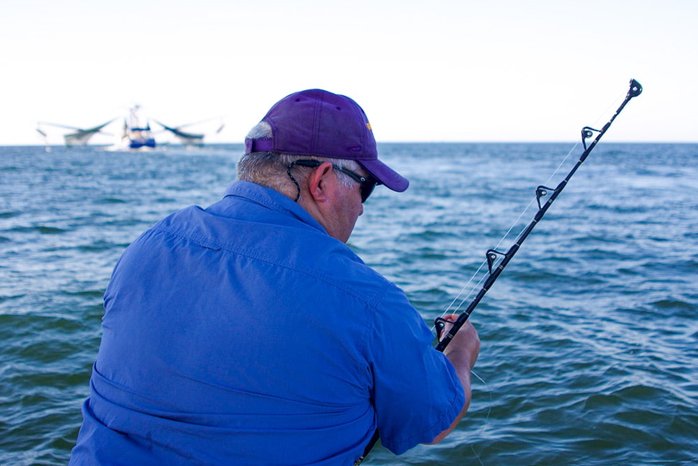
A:
<svg viewBox="0 0 698 466">
<path fill-rule="evenodd" d="M 604 136 L 606 131 L 611 126 L 611 123 L 613 123 L 614 119 L 616 119 L 618 114 L 620 114 L 623 111 L 623 108 L 625 108 L 625 105 L 628 102 L 630 102 L 630 99 L 639 96 L 641 92 L 642 86 L 640 85 L 640 83 L 637 82 L 637 80 L 631 79 L 630 89 L 628 90 L 628 94 L 625 96 L 625 100 L 623 100 L 621 106 L 618 107 L 614 115 L 611 117 L 611 119 L 609 119 L 609 122 L 607 122 L 607 124 L 604 124 L 604 126 L 600 130 L 593 129 L 590 126 L 584 126 L 584 128 L 581 129 L 581 143 L 582 145 L 584 145 L 584 152 L 581 154 L 581 156 L 579 156 L 579 161 L 577 161 L 572 170 L 570 170 L 570 173 L 567 173 L 565 179 L 562 180 L 560 184 L 557 185 L 557 187 L 549 188 L 539 186 L 535 189 L 535 198 L 538 204 L 538 211 L 536 212 L 535 217 L 533 217 L 528 226 L 526 226 L 526 228 L 524 228 L 524 230 L 519 234 L 514 244 L 511 245 L 509 249 L 507 249 L 507 252 L 500 252 L 497 249 L 487 250 L 486 256 L 489 275 L 487 276 L 487 279 L 482 285 L 482 288 L 480 289 L 480 291 L 478 291 L 477 295 L 470 302 L 466 310 L 461 312 L 461 314 L 459 314 L 459 316 L 453 322 L 447 321 L 446 319 L 443 319 L 443 317 L 437 317 L 434 320 L 434 325 L 436 326 L 436 335 L 439 338 L 439 342 L 438 344 L 436 344 L 436 349 L 438 351 L 443 352 L 443 350 L 446 349 L 451 340 L 453 340 L 453 337 L 456 335 L 456 333 L 458 333 L 458 330 L 460 330 L 461 327 L 466 323 L 466 321 L 468 321 L 468 317 L 470 317 L 470 314 L 473 313 L 475 307 L 478 304 L 480 304 L 480 301 L 482 301 L 482 298 L 484 298 L 485 294 L 487 294 L 487 291 L 489 291 L 494 282 L 496 282 L 496 279 L 501 275 L 504 268 L 507 266 L 508 263 L 511 262 L 511 260 L 514 258 L 514 255 L 517 254 L 517 251 L 519 251 L 519 248 L 521 247 L 523 241 L 526 240 L 526 238 L 528 238 L 528 235 L 530 235 L 531 231 L 533 231 L 533 228 L 538 224 L 540 219 L 543 218 L 545 212 L 547 212 L 550 208 L 550 205 L 556 200 L 556 198 L 558 198 L 558 196 L 560 196 L 560 193 L 563 191 L 563 189 L 565 189 L 565 186 L 567 186 L 567 182 L 570 181 L 572 175 L 574 175 L 574 173 L 577 172 L 579 166 L 581 166 L 581 164 L 584 163 L 589 154 L 591 154 L 591 151 L 594 150 L 594 147 L 596 147 L 599 140 Z M 594 135 L 594 133 L 596 133 L 597 136 L 593 140 L 593 142 L 587 147 L 586 140 L 588 138 L 591 138 Z M 542 198 L 547 197 L 548 195 L 550 195 L 550 197 L 544 204 L 542 204 Z M 499 259 L 500 261 L 498 262 Z M 442 337 L 441 334 L 443 333 L 443 330 L 446 328 L 447 324 L 451 324 L 452 327 Z M 364 454 L 357 458 L 357 460 L 354 462 L 354 466 L 359 466 L 362 463 L 364 458 L 366 458 L 366 455 L 368 455 L 371 449 L 373 449 L 373 446 L 376 445 L 376 442 L 378 442 L 379 438 L 380 433 L 378 432 L 378 430 L 376 430 L 376 432 L 373 432 L 373 437 L 371 437 L 369 444 L 366 445 L 366 448 L 364 449 Z"/>
</svg>

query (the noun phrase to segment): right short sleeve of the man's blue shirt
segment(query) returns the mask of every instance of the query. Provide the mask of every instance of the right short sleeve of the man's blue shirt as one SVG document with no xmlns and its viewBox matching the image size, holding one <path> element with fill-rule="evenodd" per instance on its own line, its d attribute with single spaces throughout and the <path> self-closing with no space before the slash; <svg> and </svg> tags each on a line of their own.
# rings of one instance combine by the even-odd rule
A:
<svg viewBox="0 0 698 466">
<path fill-rule="evenodd" d="M 433 441 L 465 405 L 453 365 L 405 294 L 392 286 L 376 307 L 368 344 L 383 446 L 399 455 Z"/>
</svg>

